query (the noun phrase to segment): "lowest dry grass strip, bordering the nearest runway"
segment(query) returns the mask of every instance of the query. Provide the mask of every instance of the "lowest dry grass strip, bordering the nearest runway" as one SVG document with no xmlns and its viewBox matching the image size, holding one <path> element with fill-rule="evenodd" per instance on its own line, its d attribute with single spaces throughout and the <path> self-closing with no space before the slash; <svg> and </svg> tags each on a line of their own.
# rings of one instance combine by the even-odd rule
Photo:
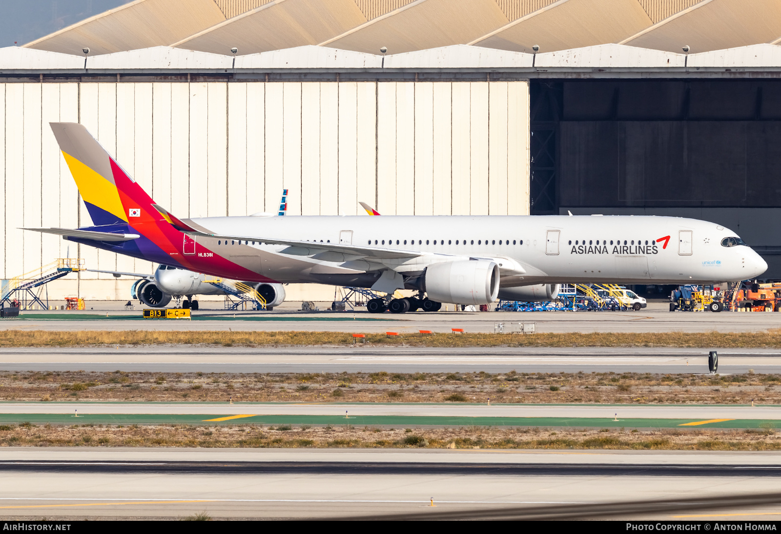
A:
<svg viewBox="0 0 781 534">
<path fill-rule="evenodd" d="M 745 430 L 461 427 L 312 428 L 308 425 L 14 425 L 0 447 L 433 448 L 781 450 L 781 436 Z"/>
</svg>

